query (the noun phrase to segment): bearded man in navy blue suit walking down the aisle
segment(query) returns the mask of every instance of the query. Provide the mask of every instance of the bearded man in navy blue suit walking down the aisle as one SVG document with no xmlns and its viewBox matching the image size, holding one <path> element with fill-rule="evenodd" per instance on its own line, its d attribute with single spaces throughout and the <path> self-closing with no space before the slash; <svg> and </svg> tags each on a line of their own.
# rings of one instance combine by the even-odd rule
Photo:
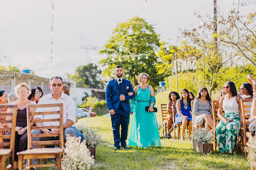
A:
<svg viewBox="0 0 256 170">
<path fill-rule="evenodd" d="M 130 104 L 129 100 L 134 97 L 134 90 L 131 82 L 123 78 L 123 67 L 117 65 L 115 68 L 116 77 L 108 81 L 106 88 L 107 107 L 111 116 L 112 130 L 114 136 L 114 150 L 128 149 L 126 146 L 126 139 L 128 133 L 128 126 L 130 121 Z M 133 93 L 129 96 L 128 93 Z M 121 138 L 120 129 L 121 125 Z"/>
</svg>

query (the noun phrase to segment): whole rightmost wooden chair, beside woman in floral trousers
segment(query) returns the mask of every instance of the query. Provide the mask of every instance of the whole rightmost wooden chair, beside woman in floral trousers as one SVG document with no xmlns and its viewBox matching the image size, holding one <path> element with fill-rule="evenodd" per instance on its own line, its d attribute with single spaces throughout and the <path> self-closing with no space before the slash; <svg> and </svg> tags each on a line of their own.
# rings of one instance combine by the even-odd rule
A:
<svg viewBox="0 0 256 170">
<path fill-rule="evenodd" d="M 243 131 L 243 149 L 247 146 L 250 137 L 254 136 L 254 133 L 249 132 L 249 124 L 251 121 L 249 118 L 251 117 L 251 105 L 245 105 L 245 102 L 253 102 L 253 99 L 241 99 L 241 109 L 242 109 L 242 121 L 243 127 L 241 126 L 241 130 Z M 247 156 L 247 152 L 245 151 L 245 156 Z"/>
</svg>

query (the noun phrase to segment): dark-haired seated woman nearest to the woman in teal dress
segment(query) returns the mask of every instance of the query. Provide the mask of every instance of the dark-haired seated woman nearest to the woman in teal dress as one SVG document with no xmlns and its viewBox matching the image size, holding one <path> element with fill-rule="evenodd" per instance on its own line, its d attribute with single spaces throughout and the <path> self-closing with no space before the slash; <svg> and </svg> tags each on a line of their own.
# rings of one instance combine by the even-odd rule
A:
<svg viewBox="0 0 256 170">
<path fill-rule="evenodd" d="M 172 109 L 170 108 L 172 104 L 174 104 L 174 115 L 177 113 L 176 111 L 176 101 L 180 99 L 180 95 L 177 92 L 170 92 L 169 94 L 169 102 L 167 104 L 167 112 L 169 113 L 166 116 L 166 121 L 167 121 L 167 128 L 168 128 L 168 133 L 165 135 L 166 138 L 170 139 L 170 132 L 173 131 L 173 118 L 172 118 Z"/>
</svg>

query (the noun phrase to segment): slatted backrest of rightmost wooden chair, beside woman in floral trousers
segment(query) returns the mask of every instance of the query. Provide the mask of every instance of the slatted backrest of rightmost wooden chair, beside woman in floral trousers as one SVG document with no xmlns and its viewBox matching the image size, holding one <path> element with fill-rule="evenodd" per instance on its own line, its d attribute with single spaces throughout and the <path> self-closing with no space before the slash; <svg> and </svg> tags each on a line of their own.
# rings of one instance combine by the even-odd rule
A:
<svg viewBox="0 0 256 170">
<path fill-rule="evenodd" d="M 251 117 L 251 104 L 245 105 L 245 102 L 253 102 L 253 99 L 241 99 L 241 109 L 242 109 L 242 123 L 244 128 L 244 132 L 247 131 L 249 126 L 246 123 L 251 123 L 249 118 Z M 244 133 L 245 134 L 245 133 Z"/>
</svg>

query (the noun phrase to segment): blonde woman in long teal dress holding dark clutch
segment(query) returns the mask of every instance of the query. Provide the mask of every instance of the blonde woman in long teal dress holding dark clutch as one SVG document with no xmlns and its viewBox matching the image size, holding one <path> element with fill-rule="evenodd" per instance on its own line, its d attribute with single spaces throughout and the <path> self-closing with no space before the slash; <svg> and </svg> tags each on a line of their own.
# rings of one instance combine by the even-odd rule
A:
<svg viewBox="0 0 256 170">
<path fill-rule="evenodd" d="M 152 86 L 147 85 L 149 75 L 141 73 L 134 87 L 135 97 L 130 101 L 133 118 L 131 120 L 128 145 L 140 148 L 161 146 L 156 114 L 153 106 L 156 103 Z M 145 107 L 149 106 L 146 111 Z"/>
</svg>

